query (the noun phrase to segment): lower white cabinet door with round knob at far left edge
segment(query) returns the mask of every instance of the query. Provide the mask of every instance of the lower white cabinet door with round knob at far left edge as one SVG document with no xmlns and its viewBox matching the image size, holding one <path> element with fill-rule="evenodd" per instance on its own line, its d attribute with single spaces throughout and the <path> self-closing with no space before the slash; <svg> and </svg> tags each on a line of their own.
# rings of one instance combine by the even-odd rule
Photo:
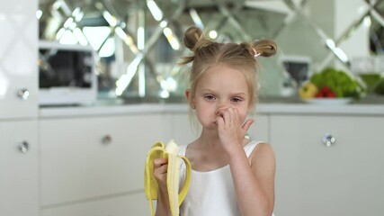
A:
<svg viewBox="0 0 384 216">
<path fill-rule="evenodd" d="M 39 215 L 37 127 L 0 121 L 0 215 Z"/>
</svg>

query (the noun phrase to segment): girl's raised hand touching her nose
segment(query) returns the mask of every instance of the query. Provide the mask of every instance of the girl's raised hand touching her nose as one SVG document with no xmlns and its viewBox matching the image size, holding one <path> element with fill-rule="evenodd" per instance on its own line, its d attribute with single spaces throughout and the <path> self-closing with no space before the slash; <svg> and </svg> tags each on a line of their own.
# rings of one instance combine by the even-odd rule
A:
<svg viewBox="0 0 384 216">
<path fill-rule="evenodd" d="M 239 148 L 243 149 L 246 131 L 254 120 L 249 119 L 243 124 L 238 110 L 232 107 L 219 109 L 217 115 L 219 139 L 228 155 L 231 156 Z"/>
</svg>

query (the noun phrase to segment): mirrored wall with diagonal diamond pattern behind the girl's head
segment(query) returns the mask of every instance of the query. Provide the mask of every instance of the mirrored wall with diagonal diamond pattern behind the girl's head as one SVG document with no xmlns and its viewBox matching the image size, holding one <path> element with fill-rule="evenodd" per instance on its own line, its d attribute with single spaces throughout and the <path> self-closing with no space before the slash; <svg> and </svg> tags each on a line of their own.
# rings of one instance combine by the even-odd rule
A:
<svg viewBox="0 0 384 216">
<path fill-rule="evenodd" d="M 354 57 L 383 55 L 383 1 L 353 0 L 352 14 L 344 4 L 351 2 L 40 0 L 37 15 L 40 40 L 96 50 L 100 98 L 177 101 L 189 73 L 177 61 L 189 54 L 181 40 L 191 25 L 218 41 L 275 40 L 278 55 L 260 58 L 264 96 L 291 95 L 286 89 L 302 81 L 295 75 L 302 71 L 285 67 L 288 60 L 308 59 L 309 75 L 333 65 L 349 70 Z"/>
</svg>

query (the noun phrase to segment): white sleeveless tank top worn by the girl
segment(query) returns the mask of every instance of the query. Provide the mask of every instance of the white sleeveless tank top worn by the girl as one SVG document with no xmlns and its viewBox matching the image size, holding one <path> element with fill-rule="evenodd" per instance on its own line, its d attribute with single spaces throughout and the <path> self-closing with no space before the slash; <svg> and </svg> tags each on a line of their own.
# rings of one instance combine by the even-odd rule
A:
<svg viewBox="0 0 384 216">
<path fill-rule="evenodd" d="M 251 141 L 245 147 L 249 157 L 261 142 Z M 180 147 L 180 155 L 185 156 L 187 146 Z M 181 166 L 180 186 L 183 185 L 185 166 Z M 180 206 L 181 216 L 241 216 L 237 206 L 235 187 L 229 165 L 209 172 L 192 170 L 191 185 Z"/>
</svg>

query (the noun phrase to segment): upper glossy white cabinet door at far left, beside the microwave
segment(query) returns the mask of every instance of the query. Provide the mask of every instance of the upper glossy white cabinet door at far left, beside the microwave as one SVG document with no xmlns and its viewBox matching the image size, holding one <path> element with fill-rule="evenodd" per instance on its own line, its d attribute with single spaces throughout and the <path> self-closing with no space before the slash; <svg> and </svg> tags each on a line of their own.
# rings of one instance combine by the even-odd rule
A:
<svg viewBox="0 0 384 216">
<path fill-rule="evenodd" d="M 0 119 L 38 114 L 37 0 L 0 3 Z"/>
</svg>

